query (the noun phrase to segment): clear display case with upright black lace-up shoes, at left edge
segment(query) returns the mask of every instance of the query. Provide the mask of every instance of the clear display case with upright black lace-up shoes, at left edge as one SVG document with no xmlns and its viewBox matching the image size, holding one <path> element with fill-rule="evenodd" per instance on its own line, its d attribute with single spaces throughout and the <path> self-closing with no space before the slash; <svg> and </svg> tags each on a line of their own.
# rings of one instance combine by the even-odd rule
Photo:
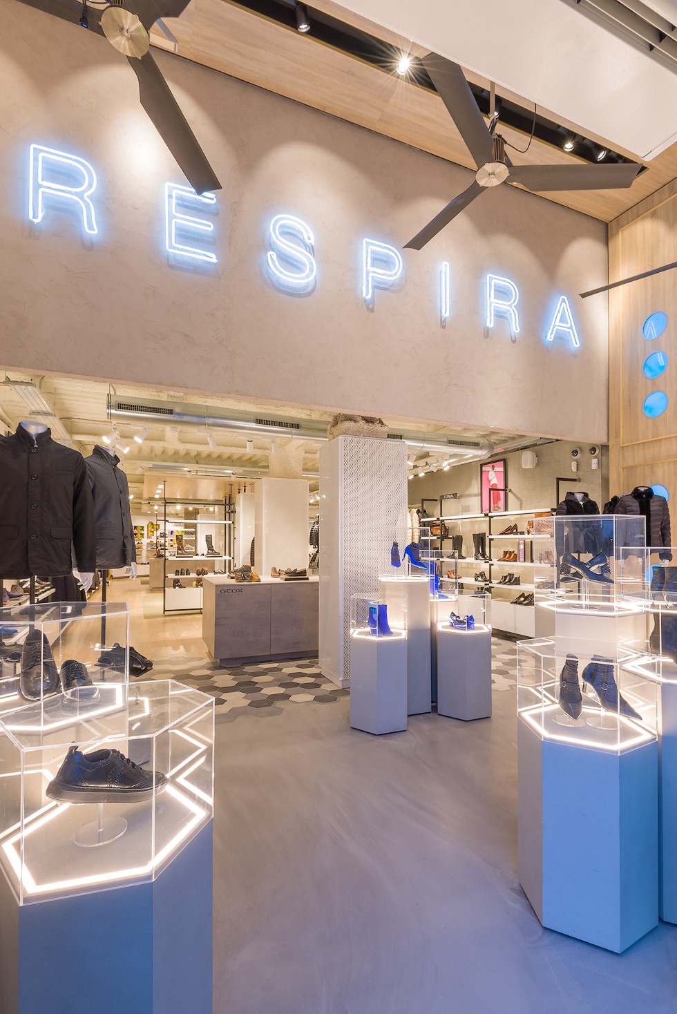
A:
<svg viewBox="0 0 677 1014">
<path fill-rule="evenodd" d="M 62 691 L 69 662 L 94 684 L 129 678 L 126 602 L 55 602 L 0 609 L 0 715 Z"/>
</svg>

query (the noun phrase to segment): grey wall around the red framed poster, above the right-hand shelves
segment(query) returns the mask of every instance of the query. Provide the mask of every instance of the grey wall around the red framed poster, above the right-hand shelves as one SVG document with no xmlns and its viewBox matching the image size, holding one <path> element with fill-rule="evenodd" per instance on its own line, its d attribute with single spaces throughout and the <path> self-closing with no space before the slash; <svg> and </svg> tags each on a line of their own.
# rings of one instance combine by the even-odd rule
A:
<svg viewBox="0 0 677 1014">
<path fill-rule="evenodd" d="M 608 499 L 608 450 L 601 447 L 598 455 L 599 467 L 592 467 L 593 458 L 588 453 L 590 443 L 573 443 L 557 440 L 553 443 L 534 447 L 537 457 L 535 468 L 522 467 L 522 451 L 495 455 L 487 460 L 505 458 L 508 465 L 509 510 L 542 509 L 556 507 L 556 480 L 566 481 L 560 485 L 560 496 L 567 489 L 585 491 L 599 504 L 600 510 Z M 578 459 L 579 470 L 572 472 L 572 450 L 580 448 L 583 454 Z M 469 464 L 459 464 L 449 472 L 428 473 L 421 479 L 408 482 L 409 507 L 421 507 L 426 497 L 438 500 L 445 493 L 457 493 L 458 500 L 446 500 L 443 504 L 444 515 L 476 514 L 481 510 L 479 497 L 479 461 Z M 578 480 L 578 482 L 577 482 Z M 563 492 L 562 492 L 563 491 Z M 437 514 L 435 503 L 427 503 L 429 514 Z M 486 524 L 480 518 L 476 523 L 468 521 L 467 532 L 485 531 Z M 466 528 L 464 526 L 465 533 Z M 453 533 L 453 532 L 452 532 Z"/>
</svg>

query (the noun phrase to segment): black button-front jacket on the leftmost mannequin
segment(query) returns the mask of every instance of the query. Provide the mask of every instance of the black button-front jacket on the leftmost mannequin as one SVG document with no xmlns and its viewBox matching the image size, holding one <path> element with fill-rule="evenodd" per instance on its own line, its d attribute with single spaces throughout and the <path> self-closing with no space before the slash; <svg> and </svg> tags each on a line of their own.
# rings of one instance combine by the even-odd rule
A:
<svg viewBox="0 0 677 1014">
<path fill-rule="evenodd" d="M 22 426 L 0 437 L 0 576 L 59 577 L 96 566 L 94 504 L 82 454 Z"/>
</svg>

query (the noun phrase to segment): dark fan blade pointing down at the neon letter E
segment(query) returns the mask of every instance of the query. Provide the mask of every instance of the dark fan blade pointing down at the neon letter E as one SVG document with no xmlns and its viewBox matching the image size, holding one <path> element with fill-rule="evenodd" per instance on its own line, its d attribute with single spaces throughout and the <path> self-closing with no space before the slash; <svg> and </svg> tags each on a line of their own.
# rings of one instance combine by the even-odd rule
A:
<svg viewBox="0 0 677 1014">
<path fill-rule="evenodd" d="M 209 190 L 221 190 L 214 169 L 150 53 L 146 53 L 141 60 L 135 57 L 127 59 L 139 78 L 141 104 L 195 192 L 204 194 Z"/>
</svg>

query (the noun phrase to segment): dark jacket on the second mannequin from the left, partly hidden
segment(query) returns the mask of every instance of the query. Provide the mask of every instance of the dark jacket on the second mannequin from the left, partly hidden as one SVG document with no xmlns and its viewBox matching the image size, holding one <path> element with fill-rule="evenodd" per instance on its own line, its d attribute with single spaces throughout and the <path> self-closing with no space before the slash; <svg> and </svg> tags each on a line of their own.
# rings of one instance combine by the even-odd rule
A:
<svg viewBox="0 0 677 1014">
<path fill-rule="evenodd" d="M 96 518 L 96 566 L 129 567 L 137 558 L 127 476 L 120 458 L 94 447 L 85 458 Z"/>
</svg>

